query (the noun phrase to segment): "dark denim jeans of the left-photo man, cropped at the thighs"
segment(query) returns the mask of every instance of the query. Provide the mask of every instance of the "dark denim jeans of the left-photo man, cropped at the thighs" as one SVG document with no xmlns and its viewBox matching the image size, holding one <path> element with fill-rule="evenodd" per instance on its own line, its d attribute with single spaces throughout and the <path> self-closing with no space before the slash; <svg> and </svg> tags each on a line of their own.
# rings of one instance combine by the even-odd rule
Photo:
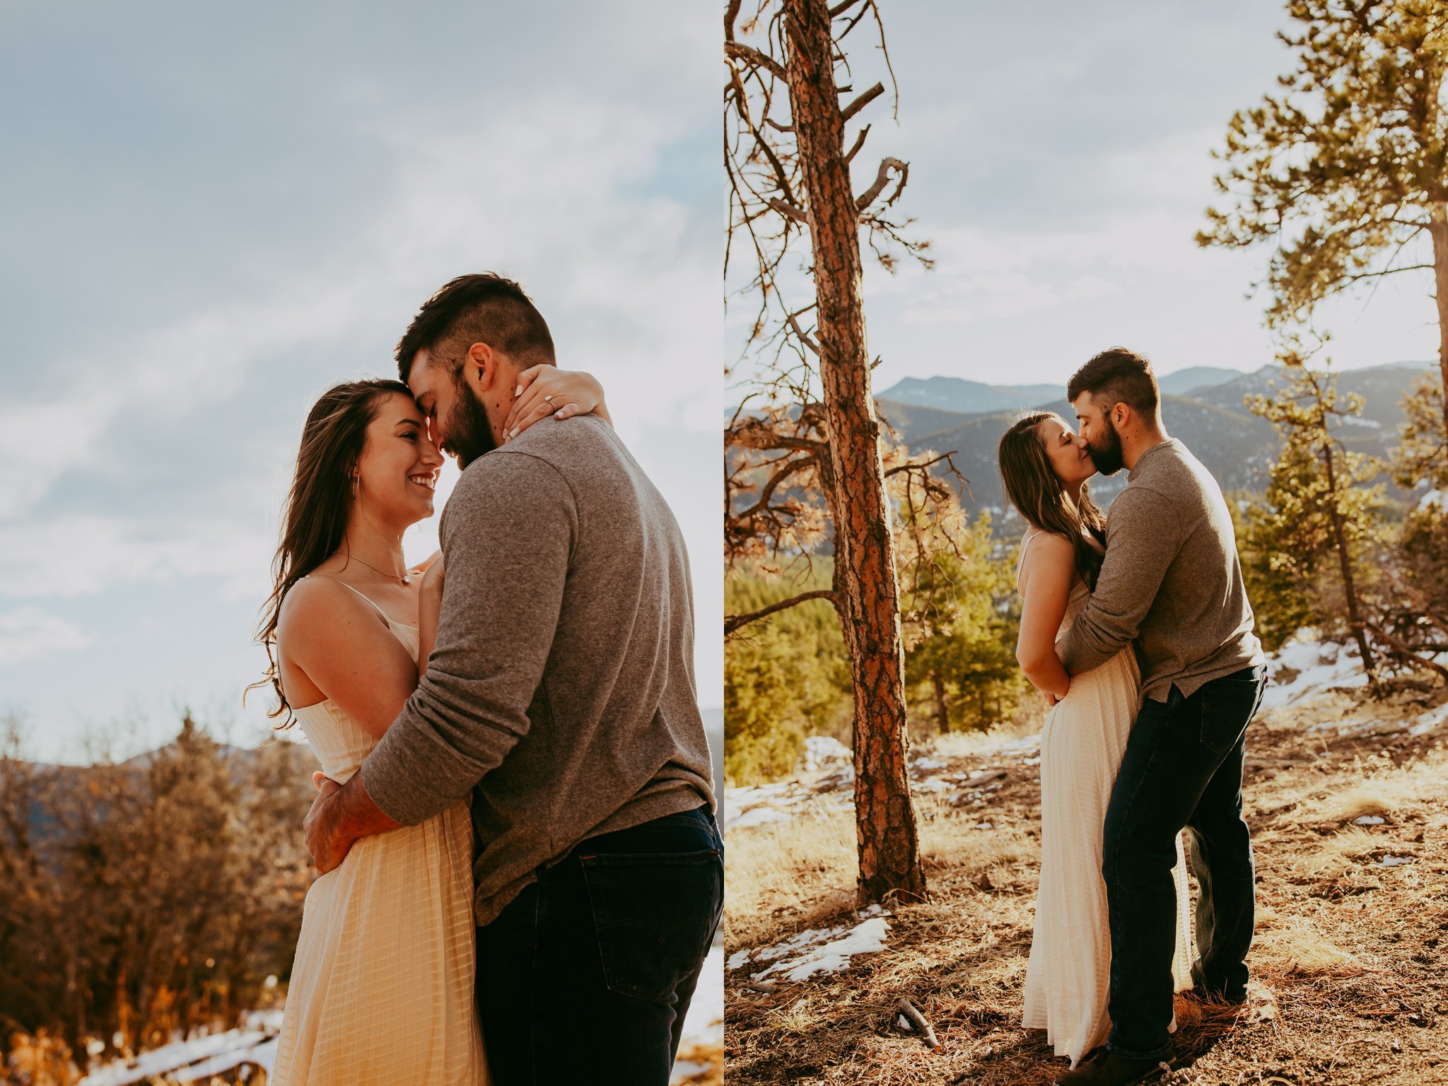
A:
<svg viewBox="0 0 1448 1086">
<path fill-rule="evenodd" d="M 540 870 L 478 928 L 495 1086 L 666 1086 L 723 911 L 707 807 L 591 837 Z"/>
</svg>

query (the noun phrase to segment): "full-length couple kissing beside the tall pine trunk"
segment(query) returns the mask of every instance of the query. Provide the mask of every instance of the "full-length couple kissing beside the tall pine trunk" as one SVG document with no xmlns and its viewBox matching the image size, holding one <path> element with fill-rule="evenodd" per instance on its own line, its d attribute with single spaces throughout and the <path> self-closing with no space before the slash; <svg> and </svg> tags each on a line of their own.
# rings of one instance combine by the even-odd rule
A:
<svg viewBox="0 0 1448 1086">
<path fill-rule="evenodd" d="M 1053 702 L 1024 1025 L 1070 1057 L 1058 1082 L 1122 1086 L 1169 1058 L 1176 992 L 1247 999 L 1254 869 L 1241 785 L 1266 659 L 1226 501 L 1167 436 L 1151 363 L 1106 350 L 1067 400 L 1079 433 L 1035 413 L 999 447 L 1028 524 L 1016 654 Z M 1122 468 L 1108 521 L 1086 481 Z M 1200 885 L 1195 957 L 1183 831 Z"/>
</svg>

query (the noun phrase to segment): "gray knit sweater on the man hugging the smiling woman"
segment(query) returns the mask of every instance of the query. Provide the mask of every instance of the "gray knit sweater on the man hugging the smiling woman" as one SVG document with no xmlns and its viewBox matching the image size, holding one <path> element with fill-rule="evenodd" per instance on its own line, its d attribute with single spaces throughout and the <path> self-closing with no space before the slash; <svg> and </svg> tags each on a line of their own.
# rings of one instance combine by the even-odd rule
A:
<svg viewBox="0 0 1448 1086">
<path fill-rule="evenodd" d="M 471 463 L 440 534 L 437 647 L 361 775 L 404 824 L 472 794 L 488 924 L 585 837 L 712 805 L 694 602 L 673 514 L 594 417 Z"/>
</svg>

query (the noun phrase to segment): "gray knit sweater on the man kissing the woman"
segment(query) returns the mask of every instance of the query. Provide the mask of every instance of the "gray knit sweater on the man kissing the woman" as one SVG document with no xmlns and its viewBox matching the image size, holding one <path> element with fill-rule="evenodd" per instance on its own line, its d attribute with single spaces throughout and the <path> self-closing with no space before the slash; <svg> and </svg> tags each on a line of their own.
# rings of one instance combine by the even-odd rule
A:
<svg viewBox="0 0 1448 1086">
<path fill-rule="evenodd" d="M 1057 650 L 1069 670 L 1135 641 L 1142 696 L 1190 696 L 1263 663 L 1222 488 L 1174 437 L 1147 449 L 1111 504 L 1096 591 Z"/>
</svg>

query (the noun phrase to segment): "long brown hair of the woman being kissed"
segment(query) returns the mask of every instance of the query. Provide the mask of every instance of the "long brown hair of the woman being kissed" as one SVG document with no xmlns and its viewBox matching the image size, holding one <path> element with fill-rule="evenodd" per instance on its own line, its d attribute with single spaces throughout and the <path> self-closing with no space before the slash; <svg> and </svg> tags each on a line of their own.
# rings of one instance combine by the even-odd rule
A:
<svg viewBox="0 0 1448 1086">
<path fill-rule="evenodd" d="M 1051 468 L 1045 442 L 1037 432 L 1047 418 L 1066 424 L 1054 411 L 1034 411 L 1001 434 L 996 459 L 1001 463 L 1005 494 L 1016 513 L 1030 524 L 1043 531 L 1066 536 L 1072 542 L 1076 575 L 1087 588 L 1095 589 L 1096 576 L 1100 573 L 1100 552 L 1086 542 L 1083 529 L 1105 543 L 1106 517 L 1096 508 L 1085 485 L 1080 502 L 1074 507 L 1066 497 L 1066 488 Z"/>
</svg>

